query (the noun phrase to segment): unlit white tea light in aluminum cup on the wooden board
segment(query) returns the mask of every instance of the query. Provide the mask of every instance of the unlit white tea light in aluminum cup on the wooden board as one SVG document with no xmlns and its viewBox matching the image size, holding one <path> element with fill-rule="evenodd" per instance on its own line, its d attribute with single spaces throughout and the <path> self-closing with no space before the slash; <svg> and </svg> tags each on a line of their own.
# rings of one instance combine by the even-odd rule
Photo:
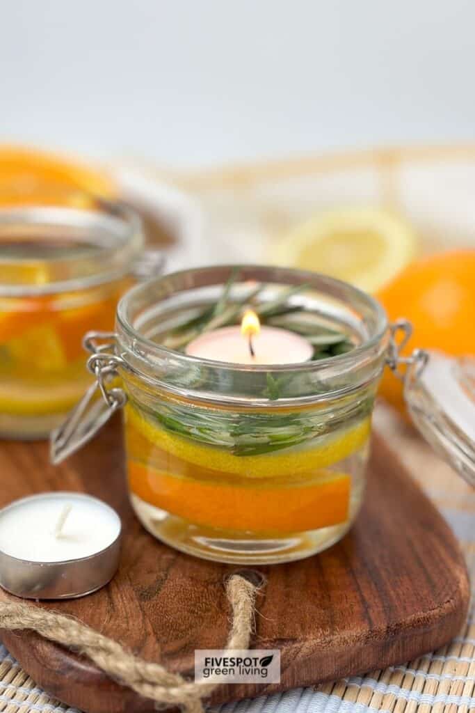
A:
<svg viewBox="0 0 475 713">
<path fill-rule="evenodd" d="M 0 511 L 0 585 L 27 599 L 71 599 L 100 589 L 119 563 L 121 524 L 81 493 L 41 493 Z"/>
</svg>

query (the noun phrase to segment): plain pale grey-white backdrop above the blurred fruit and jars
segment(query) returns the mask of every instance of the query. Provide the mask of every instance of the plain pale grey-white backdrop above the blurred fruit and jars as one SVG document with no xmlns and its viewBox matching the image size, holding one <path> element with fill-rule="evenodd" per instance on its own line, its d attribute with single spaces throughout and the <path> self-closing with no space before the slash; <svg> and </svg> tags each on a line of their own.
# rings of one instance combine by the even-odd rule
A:
<svg viewBox="0 0 475 713">
<path fill-rule="evenodd" d="M 470 0 L 0 0 L 0 140 L 209 165 L 474 137 Z"/>
</svg>

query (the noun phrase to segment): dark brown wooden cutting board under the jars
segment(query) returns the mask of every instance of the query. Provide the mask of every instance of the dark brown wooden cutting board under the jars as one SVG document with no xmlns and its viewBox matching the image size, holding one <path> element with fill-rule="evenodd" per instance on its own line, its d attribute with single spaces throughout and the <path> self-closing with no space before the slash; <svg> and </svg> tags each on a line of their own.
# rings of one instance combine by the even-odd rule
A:
<svg viewBox="0 0 475 713">
<path fill-rule="evenodd" d="M 120 422 L 66 463 L 46 443 L 0 445 L 0 505 L 47 490 L 87 491 L 122 516 L 120 569 L 108 587 L 38 606 L 78 617 L 150 661 L 189 674 L 195 648 L 220 648 L 229 628 L 223 581 L 232 565 L 157 542 L 127 501 Z M 429 474 L 428 474 L 429 477 Z M 260 567 L 253 646 L 281 649 L 281 683 L 222 687 L 213 703 L 395 665 L 444 645 L 464 622 L 469 582 L 451 530 L 384 441 L 375 438 L 365 506 L 342 542 L 289 565 Z M 0 590 L 1 599 L 14 599 Z M 154 704 L 88 660 L 32 632 L 1 632 L 41 687 L 88 713 L 145 713 Z"/>
</svg>

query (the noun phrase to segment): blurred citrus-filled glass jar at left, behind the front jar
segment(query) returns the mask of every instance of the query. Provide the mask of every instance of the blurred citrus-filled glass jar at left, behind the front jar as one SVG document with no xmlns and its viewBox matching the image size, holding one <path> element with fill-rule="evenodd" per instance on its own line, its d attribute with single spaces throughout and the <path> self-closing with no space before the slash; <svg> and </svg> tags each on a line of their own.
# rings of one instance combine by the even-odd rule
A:
<svg viewBox="0 0 475 713">
<path fill-rule="evenodd" d="M 90 383 L 83 334 L 112 329 L 143 266 L 140 220 L 120 205 L 0 210 L 1 436 L 43 438 L 64 419 Z"/>
</svg>

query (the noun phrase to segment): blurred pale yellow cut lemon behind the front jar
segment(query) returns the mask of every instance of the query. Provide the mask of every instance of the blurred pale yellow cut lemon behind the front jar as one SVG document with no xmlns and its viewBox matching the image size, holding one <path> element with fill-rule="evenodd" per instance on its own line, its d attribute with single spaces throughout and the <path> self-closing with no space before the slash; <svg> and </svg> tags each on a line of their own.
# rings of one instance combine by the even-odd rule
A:
<svg viewBox="0 0 475 713">
<path fill-rule="evenodd" d="M 417 238 L 402 217 L 378 208 L 315 215 L 278 243 L 278 265 L 323 272 L 377 292 L 414 257 Z"/>
</svg>

